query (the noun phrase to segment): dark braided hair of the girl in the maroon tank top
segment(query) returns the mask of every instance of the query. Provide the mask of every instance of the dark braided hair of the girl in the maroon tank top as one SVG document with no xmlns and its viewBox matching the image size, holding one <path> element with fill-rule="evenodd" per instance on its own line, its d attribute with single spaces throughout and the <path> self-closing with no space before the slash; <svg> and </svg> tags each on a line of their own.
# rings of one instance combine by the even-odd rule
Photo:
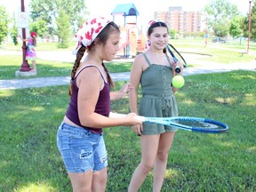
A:
<svg viewBox="0 0 256 192">
<path fill-rule="evenodd" d="M 100 34 L 96 37 L 98 42 L 103 44 L 103 45 L 105 45 L 107 43 L 109 34 L 111 34 L 113 31 L 117 31 L 118 33 L 120 33 L 120 29 L 118 28 L 116 23 L 111 21 L 111 22 L 108 23 L 108 25 L 105 28 L 103 28 L 100 31 Z M 95 45 L 95 39 L 92 42 L 92 44 L 87 48 L 88 52 L 90 52 L 92 50 L 94 45 Z M 76 76 L 76 70 L 80 66 L 80 63 L 81 63 L 81 60 L 82 60 L 82 58 L 84 56 L 84 52 L 85 51 L 86 51 L 86 47 L 82 44 L 82 47 L 76 53 L 76 60 L 75 60 L 74 66 L 73 66 L 72 71 L 71 71 L 71 80 L 70 80 L 70 85 L 68 87 L 69 96 L 72 95 L 74 79 L 75 79 L 75 76 Z M 114 87 L 115 84 L 112 81 L 111 76 L 108 73 L 108 68 L 106 68 L 106 66 L 105 66 L 105 64 L 103 62 L 102 62 L 102 67 L 106 71 L 107 78 L 108 78 L 108 84 L 110 84 L 112 87 Z"/>
</svg>

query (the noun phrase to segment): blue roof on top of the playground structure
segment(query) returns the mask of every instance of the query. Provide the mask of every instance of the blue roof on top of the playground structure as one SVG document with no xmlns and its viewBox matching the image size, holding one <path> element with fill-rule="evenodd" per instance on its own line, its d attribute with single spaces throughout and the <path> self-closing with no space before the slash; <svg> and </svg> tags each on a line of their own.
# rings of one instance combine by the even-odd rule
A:
<svg viewBox="0 0 256 192">
<path fill-rule="evenodd" d="M 111 12 L 112 15 L 122 13 L 123 16 L 137 16 L 139 15 L 138 10 L 134 4 L 117 4 L 116 8 Z"/>
</svg>

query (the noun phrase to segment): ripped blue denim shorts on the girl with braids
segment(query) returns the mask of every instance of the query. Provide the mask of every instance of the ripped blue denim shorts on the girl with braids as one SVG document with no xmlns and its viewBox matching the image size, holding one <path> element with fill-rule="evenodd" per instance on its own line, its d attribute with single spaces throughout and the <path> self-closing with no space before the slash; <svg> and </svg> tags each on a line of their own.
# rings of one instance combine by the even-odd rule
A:
<svg viewBox="0 0 256 192">
<path fill-rule="evenodd" d="M 68 172 L 100 171 L 108 166 L 103 135 L 61 123 L 57 146 Z"/>
</svg>

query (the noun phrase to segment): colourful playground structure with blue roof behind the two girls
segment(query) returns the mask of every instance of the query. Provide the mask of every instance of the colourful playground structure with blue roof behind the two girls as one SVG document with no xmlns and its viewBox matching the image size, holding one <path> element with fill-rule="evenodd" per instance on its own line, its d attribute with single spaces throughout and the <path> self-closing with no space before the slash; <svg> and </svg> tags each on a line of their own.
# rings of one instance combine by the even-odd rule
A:
<svg viewBox="0 0 256 192">
<path fill-rule="evenodd" d="M 124 16 L 124 26 L 120 26 L 121 40 L 120 49 L 117 57 L 133 58 L 138 53 L 144 52 L 147 37 L 142 34 L 140 28 L 137 27 L 137 11 L 134 4 L 117 4 L 113 12 L 113 20 L 116 16 Z M 127 16 L 135 16 L 135 22 L 126 22 Z"/>
</svg>

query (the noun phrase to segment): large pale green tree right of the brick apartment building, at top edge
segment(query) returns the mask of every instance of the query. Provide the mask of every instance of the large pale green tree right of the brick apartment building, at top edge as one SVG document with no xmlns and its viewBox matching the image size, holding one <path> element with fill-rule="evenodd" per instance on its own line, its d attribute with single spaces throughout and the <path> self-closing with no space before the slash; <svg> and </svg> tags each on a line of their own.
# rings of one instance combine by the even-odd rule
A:
<svg viewBox="0 0 256 192">
<path fill-rule="evenodd" d="M 207 4 L 204 12 L 208 15 L 208 25 L 212 26 L 215 36 L 227 36 L 230 21 L 236 15 L 241 15 L 236 4 L 231 4 L 228 0 L 212 0 Z"/>
</svg>

